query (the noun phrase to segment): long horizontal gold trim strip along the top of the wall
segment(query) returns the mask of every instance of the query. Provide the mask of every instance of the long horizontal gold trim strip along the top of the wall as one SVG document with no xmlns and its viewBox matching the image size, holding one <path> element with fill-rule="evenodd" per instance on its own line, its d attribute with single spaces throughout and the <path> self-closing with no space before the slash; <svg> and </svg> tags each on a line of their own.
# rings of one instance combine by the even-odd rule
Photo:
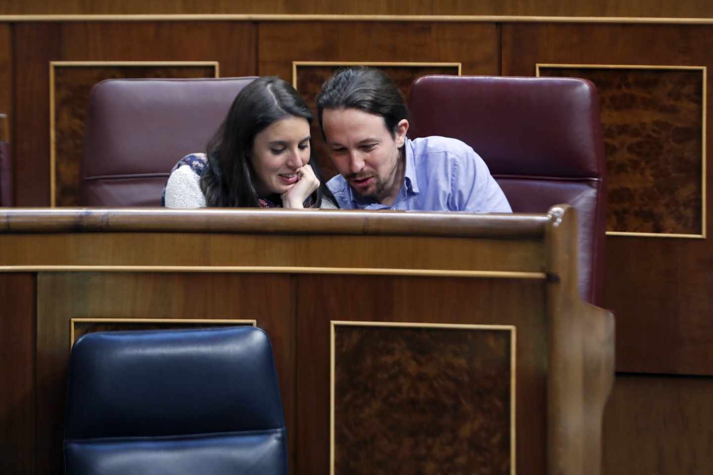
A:
<svg viewBox="0 0 713 475">
<path fill-rule="evenodd" d="M 655 16 L 528 16 L 528 15 L 339 15 L 339 14 L 66 14 L 0 15 L 0 22 L 52 21 L 432 21 L 458 23 L 582 23 L 709 25 L 713 19 Z"/>
</svg>

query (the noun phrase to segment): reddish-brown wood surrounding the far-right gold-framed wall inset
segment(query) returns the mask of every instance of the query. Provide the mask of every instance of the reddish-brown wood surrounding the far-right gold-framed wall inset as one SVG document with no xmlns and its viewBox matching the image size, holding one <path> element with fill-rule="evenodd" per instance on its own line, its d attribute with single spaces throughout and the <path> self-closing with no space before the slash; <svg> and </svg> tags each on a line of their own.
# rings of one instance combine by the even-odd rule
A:
<svg viewBox="0 0 713 475">
<path fill-rule="evenodd" d="M 503 74 L 531 76 L 536 63 L 712 67 L 709 32 L 704 26 L 504 25 Z M 709 79 L 708 90 L 711 85 Z M 708 116 L 711 111 L 708 104 Z M 707 150 L 711 136 L 707 130 Z M 713 348 L 713 328 L 705 316 L 713 301 L 703 287 L 713 273 L 713 241 L 608 236 L 606 248 L 603 301 L 617 318 L 617 370 L 713 375 L 706 350 Z"/>
</svg>

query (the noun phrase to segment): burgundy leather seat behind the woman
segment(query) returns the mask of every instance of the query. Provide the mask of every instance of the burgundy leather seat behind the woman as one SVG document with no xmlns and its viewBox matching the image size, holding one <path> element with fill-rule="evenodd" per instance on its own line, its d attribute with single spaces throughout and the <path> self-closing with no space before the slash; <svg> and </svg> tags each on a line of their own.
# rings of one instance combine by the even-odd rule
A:
<svg viewBox="0 0 713 475">
<path fill-rule="evenodd" d="M 89 97 L 82 204 L 156 206 L 168 172 L 205 151 L 240 90 L 255 79 L 108 79 Z"/>
</svg>

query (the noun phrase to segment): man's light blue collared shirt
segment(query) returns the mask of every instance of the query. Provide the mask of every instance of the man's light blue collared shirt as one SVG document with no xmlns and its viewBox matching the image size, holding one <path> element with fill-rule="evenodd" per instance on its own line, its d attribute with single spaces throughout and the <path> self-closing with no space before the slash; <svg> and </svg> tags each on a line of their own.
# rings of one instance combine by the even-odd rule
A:
<svg viewBox="0 0 713 475">
<path fill-rule="evenodd" d="M 342 175 L 327 187 L 342 209 L 416 209 L 511 213 L 500 185 L 488 165 L 471 147 L 447 137 L 406 139 L 404 184 L 392 206 L 353 192 Z"/>
</svg>

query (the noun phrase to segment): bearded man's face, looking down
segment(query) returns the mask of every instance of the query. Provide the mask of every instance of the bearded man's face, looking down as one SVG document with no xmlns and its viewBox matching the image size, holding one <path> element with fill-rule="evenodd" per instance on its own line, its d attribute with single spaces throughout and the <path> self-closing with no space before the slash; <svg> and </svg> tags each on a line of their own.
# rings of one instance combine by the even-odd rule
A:
<svg viewBox="0 0 713 475">
<path fill-rule="evenodd" d="M 401 120 L 392 134 L 380 115 L 327 109 L 322 113 L 322 126 L 332 163 L 354 192 L 391 204 L 404 176 L 399 147 L 404 145 L 409 122 Z"/>
</svg>

